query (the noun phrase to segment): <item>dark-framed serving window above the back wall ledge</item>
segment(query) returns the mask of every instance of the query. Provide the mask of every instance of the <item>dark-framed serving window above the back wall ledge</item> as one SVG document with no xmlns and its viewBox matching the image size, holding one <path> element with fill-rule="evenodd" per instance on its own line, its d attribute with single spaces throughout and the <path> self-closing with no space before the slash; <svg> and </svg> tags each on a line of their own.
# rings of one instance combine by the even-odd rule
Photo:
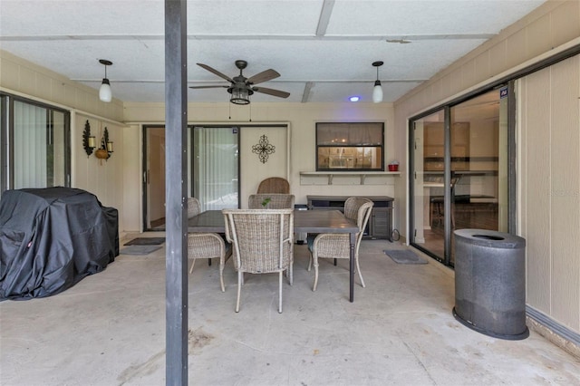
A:
<svg viewBox="0 0 580 386">
<path fill-rule="evenodd" d="M 316 171 L 383 171 L 382 122 L 316 123 Z"/>
</svg>

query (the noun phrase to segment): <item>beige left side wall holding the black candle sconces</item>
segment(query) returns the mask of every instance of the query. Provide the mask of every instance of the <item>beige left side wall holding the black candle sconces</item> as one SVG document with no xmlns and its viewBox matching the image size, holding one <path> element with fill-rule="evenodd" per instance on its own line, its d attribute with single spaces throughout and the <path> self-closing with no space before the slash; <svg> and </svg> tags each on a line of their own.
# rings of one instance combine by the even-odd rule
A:
<svg viewBox="0 0 580 386">
<path fill-rule="evenodd" d="M 0 50 L 0 89 L 4 92 L 45 102 L 71 111 L 71 184 L 73 188 L 90 191 L 105 207 L 119 210 L 119 229 L 138 229 L 135 221 L 123 215 L 123 192 L 125 173 L 123 168 L 124 124 L 122 101 L 103 103 L 97 90 L 72 82 L 62 75 L 29 63 Z M 90 157 L 82 148 L 82 131 L 89 121 L 91 133 L 100 146 L 102 132 L 106 127 L 114 152 L 111 159 L 100 161 Z M 132 143 L 131 143 L 132 145 Z M 95 149 L 96 150 L 96 149 Z"/>
</svg>

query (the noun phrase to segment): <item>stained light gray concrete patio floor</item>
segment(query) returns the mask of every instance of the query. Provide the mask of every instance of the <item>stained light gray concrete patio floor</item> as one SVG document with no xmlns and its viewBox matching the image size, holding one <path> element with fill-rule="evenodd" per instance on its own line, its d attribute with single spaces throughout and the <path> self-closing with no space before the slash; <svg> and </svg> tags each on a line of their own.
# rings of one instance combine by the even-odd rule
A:
<svg viewBox="0 0 580 386">
<path fill-rule="evenodd" d="M 348 262 L 322 262 L 313 292 L 306 246 L 295 246 L 283 314 L 277 275 L 247 275 L 236 314 L 232 261 L 225 293 L 218 261 L 198 262 L 189 275 L 189 384 L 580 384 L 580 361 L 537 333 L 505 341 L 457 322 L 453 271 L 431 259 L 399 265 L 382 252 L 404 247 L 362 241 L 366 288 L 355 276 L 351 304 Z M 2 385 L 163 385 L 165 248 L 118 256 L 62 294 L 2 302 L 0 321 Z"/>
</svg>

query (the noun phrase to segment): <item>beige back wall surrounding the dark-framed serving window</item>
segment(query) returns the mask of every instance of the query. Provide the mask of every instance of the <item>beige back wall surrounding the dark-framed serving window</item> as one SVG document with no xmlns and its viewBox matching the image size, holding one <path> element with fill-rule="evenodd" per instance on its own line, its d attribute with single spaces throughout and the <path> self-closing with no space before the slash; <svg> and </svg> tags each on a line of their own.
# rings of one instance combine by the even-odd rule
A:
<svg viewBox="0 0 580 386">
<path fill-rule="evenodd" d="M 315 169 L 315 123 L 317 121 L 380 121 L 385 128 L 385 164 L 391 159 L 401 159 L 405 150 L 396 146 L 396 136 L 393 128 L 394 111 L 390 103 L 252 103 L 251 121 L 249 109 L 246 107 L 228 106 L 227 103 L 189 103 L 188 120 L 191 124 L 225 124 L 255 126 L 262 124 L 288 125 L 289 129 L 289 171 L 288 180 L 291 192 L 295 195 L 296 204 L 306 204 L 307 195 L 364 195 L 391 196 L 395 198 L 395 211 L 400 209 L 400 198 L 394 196 L 395 185 L 401 182 L 400 175 L 382 177 L 367 177 L 364 185 L 358 176 L 349 178 L 334 178 L 328 185 L 327 177 L 304 178 L 301 171 Z M 231 120 L 229 117 L 231 116 Z M 140 128 L 142 124 L 160 123 L 165 120 L 163 103 L 125 103 L 125 121 L 133 127 Z M 139 131 L 139 130 L 138 130 Z M 140 147 L 127 144 L 124 148 L 126 157 L 140 158 Z M 245 154 L 245 155 L 244 155 Z M 242 153 L 242 157 L 256 157 L 251 151 Z M 246 163 L 241 159 L 241 164 Z M 251 163 L 251 162 L 249 162 Z M 270 164 L 259 165 L 268 168 Z M 135 165 L 137 166 L 137 165 Z M 386 168 L 386 165 L 385 165 Z M 125 168 L 125 171 L 127 169 Z M 140 169 L 131 170 L 130 174 L 140 174 Z M 260 172 L 261 173 L 261 172 Z M 285 175 L 285 170 L 271 170 L 271 176 Z M 127 186 L 131 194 L 140 188 Z M 123 208 L 129 217 L 140 217 L 140 203 L 127 200 Z M 394 227 L 400 228 L 395 221 Z"/>
</svg>

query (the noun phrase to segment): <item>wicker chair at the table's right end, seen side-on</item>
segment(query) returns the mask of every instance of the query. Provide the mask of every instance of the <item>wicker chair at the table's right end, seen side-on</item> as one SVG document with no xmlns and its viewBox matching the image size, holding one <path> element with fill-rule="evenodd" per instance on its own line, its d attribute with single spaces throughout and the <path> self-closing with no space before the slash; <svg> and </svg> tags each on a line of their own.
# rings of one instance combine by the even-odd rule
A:
<svg viewBox="0 0 580 386">
<path fill-rule="evenodd" d="M 361 278 L 361 285 L 364 287 L 361 266 L 359 265 L 359 246 L 361 246 L 362 233 L 371 217 L 373 202 L 368 198 L 351 197 L 344 202 L 344 216 L 355 221 L 359 227 L 354 245 L 354 259 L 356 270 Z M 346 258 L 351 257 L 351 239 L 349 234 L 321 233 L 319 235 L 308 236 L 308 250 L 310 251 L 310 261 L 308 271 L 314 263 L 314 285 L 316 291 L 318 285 L 318 258 Z"/>
</svg>

